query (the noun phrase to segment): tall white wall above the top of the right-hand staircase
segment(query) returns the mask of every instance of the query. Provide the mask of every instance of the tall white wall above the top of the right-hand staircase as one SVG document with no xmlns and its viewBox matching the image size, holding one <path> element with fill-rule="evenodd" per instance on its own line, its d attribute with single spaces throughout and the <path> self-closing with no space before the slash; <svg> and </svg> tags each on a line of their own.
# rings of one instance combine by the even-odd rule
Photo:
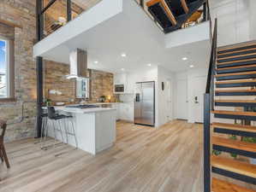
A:
<svg viewBox="0 0 256 192">
<path fill-rule="evenodd" d="M 254 1 L 254 0 L 252 0 Z M 213 0 L 211 20 L 218 20 L 218 46 L 249 41 L 248 0 Z"/>
</svg>

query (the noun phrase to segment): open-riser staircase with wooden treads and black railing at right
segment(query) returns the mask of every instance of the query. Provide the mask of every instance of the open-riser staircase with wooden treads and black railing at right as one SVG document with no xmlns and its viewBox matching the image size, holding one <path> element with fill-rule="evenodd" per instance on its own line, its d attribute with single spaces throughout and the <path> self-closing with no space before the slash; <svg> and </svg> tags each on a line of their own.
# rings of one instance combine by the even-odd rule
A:
<svg viewBox="0 0 256 192">
<path fill-rule="evenodd" d="M 256 121 L 256 113 L 248 110 L 256 107 L 256 100 L 252 99 L 256 96 L 256 42 L 217 49 L 217 20 L 213 37 L 205 93 L 204 192 L 255 192 L 248 188 L 249 184 L 256 184 L 256 166 L 246 159 L 256 159 L 256 143 L 240 138 L 256 137 L 256 126 L 251 125 L 251 121 Z M 222 110 L 223 107 L 226 110 Z M 215 118 L 213 122 L 211 113 Z M 236 121 L 240 123 L 235 124 Z M 245 160 L 229 154 L 240 155 Z M 232 178 L 233 182 L 219 176 Z M 245 187 L 237 185 L 240 182 L 236 180 L 245 183 Z"/>
</svg>

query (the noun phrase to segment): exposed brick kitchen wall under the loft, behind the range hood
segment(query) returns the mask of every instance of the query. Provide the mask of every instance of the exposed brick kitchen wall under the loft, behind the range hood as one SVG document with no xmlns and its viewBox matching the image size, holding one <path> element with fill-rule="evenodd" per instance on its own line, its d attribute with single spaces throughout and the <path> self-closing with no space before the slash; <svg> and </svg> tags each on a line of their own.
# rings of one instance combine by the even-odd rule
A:
<svg viewBox="0 0 256 192">
<path fill-rule="evenodd" d="M 75 99 L 74 80 L 65 79 L 69 66 L 54 61 L 45 61 L 45 96 L 54 102 Z M 91 70 L 91 101 L 96 102 L 100 96 L 113 96 L 113 74 Z M 61 96 L 49 94 L 49 90 L 62 92 Z"/>
</svg>

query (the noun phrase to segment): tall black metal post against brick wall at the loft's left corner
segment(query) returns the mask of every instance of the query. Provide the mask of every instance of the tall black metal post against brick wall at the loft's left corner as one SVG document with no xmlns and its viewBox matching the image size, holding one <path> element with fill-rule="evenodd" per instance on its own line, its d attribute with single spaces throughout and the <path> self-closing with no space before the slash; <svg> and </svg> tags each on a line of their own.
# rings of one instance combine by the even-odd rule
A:
<svg viewBox="0 0 256 192">
<path fill-rule="evenodd" d="M 36 30 L 38 42 L 43 38 L 44 35 L 44 15 L 41 14 L 43 9 L 43 1 L 37 0 L 37 18 L 36 18 Z M 42 104 L 43 104 L 43 58 L 38 56 L 36 58 L 37 67 L 37 137 L 41 136 L 42 127 Z"/>
</svg>

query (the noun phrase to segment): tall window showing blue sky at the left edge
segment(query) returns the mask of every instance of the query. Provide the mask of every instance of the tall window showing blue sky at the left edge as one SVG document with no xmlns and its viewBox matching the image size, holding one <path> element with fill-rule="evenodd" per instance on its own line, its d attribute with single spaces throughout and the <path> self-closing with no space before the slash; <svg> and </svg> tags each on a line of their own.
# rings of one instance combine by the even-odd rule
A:
<svg viewBox="0 0 256 192">
<path fill-rule="evenodd" d="M 0 98 L 9 97 L 9 42 L 0 38 Z"/>
</svg>

